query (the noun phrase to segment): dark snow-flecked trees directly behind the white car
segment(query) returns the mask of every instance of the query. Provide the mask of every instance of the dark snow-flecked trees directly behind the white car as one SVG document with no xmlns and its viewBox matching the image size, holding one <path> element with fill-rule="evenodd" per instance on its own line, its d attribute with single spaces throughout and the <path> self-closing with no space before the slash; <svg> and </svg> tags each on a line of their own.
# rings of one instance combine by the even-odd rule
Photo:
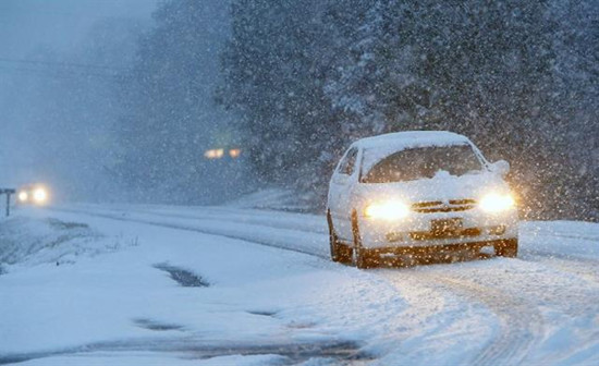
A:
<svg viewBox="0 0 599 366">
<path fill-rule="evenodd" d="M 580 111 L 592 107 L 564 101 L 561 85 L 569 83 L 555 65 L 573 61 L 567 48 L 584 53 L 596 39 L 588 38 L 594 15 L 567 29 L 596 8 L 587 2 L 562 19 L 558 2 L 540 0 L 237 0 L 221 99 L 243 117 L 253 162 L 269 179 L 317 176 L 310 183 L 323 192 L 328 169 L 351 139 L 451 130 L 491 159 L 513 162 L 512 181 L 530 217 L 579 217 L 590 209 L 583 200 L 596 199 L 597 172 L 592 183 L 576 178 L 589 175 L 573 168 L 569 136 L 595 131 L 573 122 L 589 121 Z M 578 41 L 567 45 L 570 38 Z M 596 75 L 596 54 L 578 58 L 572 72 Z M 594 103 L 598 84 L 580 85 Z"/>
</svg>

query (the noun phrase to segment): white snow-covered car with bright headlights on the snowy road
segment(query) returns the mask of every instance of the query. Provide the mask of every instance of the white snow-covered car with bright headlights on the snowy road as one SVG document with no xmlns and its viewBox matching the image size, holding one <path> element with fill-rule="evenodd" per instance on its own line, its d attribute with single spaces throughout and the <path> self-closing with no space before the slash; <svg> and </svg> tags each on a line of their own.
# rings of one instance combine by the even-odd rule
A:
<svg viewBox="0 0 599 366">
<path fill-rule="evenodd" d="M 510 164 L 489 163 L 465 136 L 399 132 L 350 146 L 329 185 L 331 257 L 358 268 L 381 256 L 480 249 L 517 255 L 517 209 L 503 180 Z"/>
</svg>

